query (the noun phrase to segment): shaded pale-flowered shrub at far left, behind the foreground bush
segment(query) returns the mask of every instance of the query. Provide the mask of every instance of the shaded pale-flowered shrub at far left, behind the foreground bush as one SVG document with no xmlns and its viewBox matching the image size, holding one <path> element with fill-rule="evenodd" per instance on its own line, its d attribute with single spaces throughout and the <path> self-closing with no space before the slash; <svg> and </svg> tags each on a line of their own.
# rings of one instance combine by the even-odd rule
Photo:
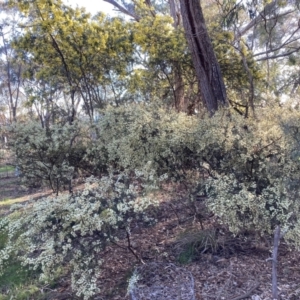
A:
<svg viewBox="0 0 300 300">
<path fill-rule="evenodd" d="M 71 180 L 85 153 L 82 131 L 76 123 L 48 129 L 35 122 L 16 125 L 13 149 L 24 181 L 28 185 L 47 182 L 55 192 L 62 185 L 71 189 Z"/>
</svg>

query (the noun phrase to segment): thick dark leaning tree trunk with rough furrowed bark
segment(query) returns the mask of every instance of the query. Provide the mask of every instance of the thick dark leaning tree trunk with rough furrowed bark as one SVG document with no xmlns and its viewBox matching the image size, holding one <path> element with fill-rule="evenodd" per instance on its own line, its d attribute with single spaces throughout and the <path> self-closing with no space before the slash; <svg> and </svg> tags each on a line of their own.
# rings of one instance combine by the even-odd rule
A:
<svg viewBox="0 0 300 300">
<path fill-rule="evenodd" d="M 180 0 L 183 27 L 198 79 L 202 101 L 212 115 L 227 106 L 219 63 L 210 41 L 199 0 Z"/>
</svg>

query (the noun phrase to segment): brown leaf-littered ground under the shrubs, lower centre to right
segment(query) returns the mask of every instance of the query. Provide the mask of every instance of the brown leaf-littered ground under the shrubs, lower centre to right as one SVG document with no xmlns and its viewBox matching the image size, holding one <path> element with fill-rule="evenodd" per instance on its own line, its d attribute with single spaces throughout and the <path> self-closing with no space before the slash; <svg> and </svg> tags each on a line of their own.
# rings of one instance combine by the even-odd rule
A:
<svg viewBox="0 0 300 300">
<path fill-rule="evenodd" d="M 176 207 L 176 213 L 170 210 L 169 201 L 164 201 L 160 207 L 160 222 L 156 226 L 135 231 L 133 229 L 132 243 L 145 263 L 154 261 L 180 265 L 180 251 L 188 241 L 197 241 L 197 233 L 199 235 L 202 232 L 200 224 L 192 217 L 192 212 L 181 201 L 169 200 L 172 200 L 173 208 Z M 201 208 L 201 203 L 198 205 Z M 180 224 L 178 217 L 181 219 Z M 214 216 L 204 222 L 206 232 L 215 232 L 216 226 Z M 233 238 L 225 232 L 217 237 L 217 245 L 215 253 L 203 252 L 204 249 L 199 247 L 199 253 L 196 251 L 192 261 L 181 265 L 194 277 L 195 299 L 273 299 L 272 264 L 267 261 L 271 256 L 271 245 L 267 248 L 253 237 Z M 122 246 L 126 247 L 125 241 Z M 131 253 L 112 246 L 103 253 L 102 259 L 105 264 L 99 285 L 109 293 L 95 299 L 129 299 L 125 287 L 128 270 L 133 270 Z M 300 254 L 289 251 L 285 243 L 281 243 L 279 247 L 278 291 L 278 299 L 300 299 Z"/>
</svg>

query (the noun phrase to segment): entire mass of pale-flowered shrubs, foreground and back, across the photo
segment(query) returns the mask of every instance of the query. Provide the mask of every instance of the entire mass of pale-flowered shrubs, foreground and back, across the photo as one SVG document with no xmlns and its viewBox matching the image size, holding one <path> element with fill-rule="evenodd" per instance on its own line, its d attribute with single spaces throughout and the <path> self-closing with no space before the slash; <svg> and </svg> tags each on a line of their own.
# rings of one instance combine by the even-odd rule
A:
<svg viewBox="0 0 300 300">
<path fill-rule="evenodd" d="M 63 266 L 77 295 L 90 299 L 99 292 L 101 251 L 130 236 L 132 222 L 153 224 L 157 201 L 149 192 L 175 183 L 190 203 L 205 196 L 234 234 L 269 237 L 280 225 L 299 248 L 299 117 L 285 107 L 245 119 L 229 109 L 210 118 L 134 105 L 109 108 L 92 125 L 17 127 L 14 150 L 28 184 L 58 193 L 76 176 L 95 177 L 79 193 L 14 207 L 18 218 L 1 220 L 2 269 L 17 255 L 47 281 Z"/>
</svg>

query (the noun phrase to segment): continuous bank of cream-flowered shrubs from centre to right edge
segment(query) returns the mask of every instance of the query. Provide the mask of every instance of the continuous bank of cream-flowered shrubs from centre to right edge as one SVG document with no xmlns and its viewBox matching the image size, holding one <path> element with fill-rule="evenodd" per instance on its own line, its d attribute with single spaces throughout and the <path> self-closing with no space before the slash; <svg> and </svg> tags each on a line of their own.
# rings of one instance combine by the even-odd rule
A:
<svg viewBox="0 0 300 300">
<path fill-rule="evenodd" d="M 268 236 L 280 224 L 299 246 L 298 120 L 287 107 L 263 108 L 256 119 L 230 109 L 210 118 L 145 105 L 111 108 L 98 124 L 97 146 L 112 168 L 182 182 L 190 199 L 208 195 L 208 208 L 236 234 Z"/>
</svg>

